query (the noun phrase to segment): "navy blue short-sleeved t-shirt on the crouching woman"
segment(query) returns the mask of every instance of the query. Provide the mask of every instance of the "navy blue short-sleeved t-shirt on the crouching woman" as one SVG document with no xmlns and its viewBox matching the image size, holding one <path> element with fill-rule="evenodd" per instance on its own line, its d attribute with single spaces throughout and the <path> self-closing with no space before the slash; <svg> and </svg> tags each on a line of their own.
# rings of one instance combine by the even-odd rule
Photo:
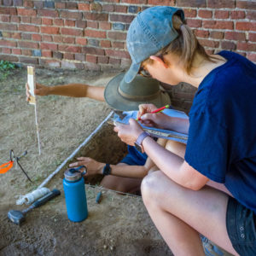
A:
<svg viewBox="0 0 256 256">
<path fill-rule="evenodd" d="M 185 160 L 256 213 L 256 65 L 233 52 L 203 79 L 189 112 Z"/>
</svg>

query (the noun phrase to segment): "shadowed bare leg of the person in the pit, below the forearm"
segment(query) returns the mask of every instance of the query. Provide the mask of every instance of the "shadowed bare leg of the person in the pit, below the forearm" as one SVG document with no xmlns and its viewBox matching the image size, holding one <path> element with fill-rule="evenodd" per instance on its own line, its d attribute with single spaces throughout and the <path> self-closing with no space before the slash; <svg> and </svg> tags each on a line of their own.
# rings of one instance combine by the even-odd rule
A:
<svg viewBox="0 0 256 256">
<path fill-rule="evenodd" d="M 125 163 L 119 163 L 119 166 L 126 165 Z M 102 179 L 102 187 L 106 189 L 113 189 L 124 193 L 135 193 L 140 189 L 142 183 L 141 178 L 133 177 L 118 177 L 113 175 L 108 175 Z"/>
</svg>

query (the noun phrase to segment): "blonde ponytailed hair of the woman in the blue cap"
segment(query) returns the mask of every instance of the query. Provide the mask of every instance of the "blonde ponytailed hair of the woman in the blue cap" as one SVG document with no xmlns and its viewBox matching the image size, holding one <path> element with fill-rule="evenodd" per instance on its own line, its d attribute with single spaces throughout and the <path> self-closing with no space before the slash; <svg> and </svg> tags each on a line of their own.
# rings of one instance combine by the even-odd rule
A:
<svg viewBox="0 0 256 256">
<path fill-rule="evenodd" d="M 207 61 L 214 61 L 214 57 L 207 55 L 206 50 L 201 46 L 195 37 L 194 32 L 183 22 L 178 15 L 172 17 L 173 27 L 176 29 L 178 36 L 170 44 L 163 49 L 160 49 L 155 55 L 167 55 L 172 53 L 180 57 L 180 62 L 183 65 L 185 71 L 190 74 L 195 54 L 201 55 Z M 153 60 L 147 59 L 143 61 L 143 64 L 153 63 Z"/>
</svg>

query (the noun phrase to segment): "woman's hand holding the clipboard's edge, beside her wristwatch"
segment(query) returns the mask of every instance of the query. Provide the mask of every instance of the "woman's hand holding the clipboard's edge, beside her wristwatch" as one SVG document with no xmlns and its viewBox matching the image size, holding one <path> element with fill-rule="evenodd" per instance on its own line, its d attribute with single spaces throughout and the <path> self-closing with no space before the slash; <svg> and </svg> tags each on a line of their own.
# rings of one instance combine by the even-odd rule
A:
<svg viewBox="0 0 256 256">
<path fill-rule="evenodd" d="M 122 142 L 134 146 L 134 143 L 137 141 L 137 137 L 143 133 L 143 128 L 135 119 L 129 119 L 129 125 L 114 126 L 113 131 L 118 133 Z"/>
</svg>

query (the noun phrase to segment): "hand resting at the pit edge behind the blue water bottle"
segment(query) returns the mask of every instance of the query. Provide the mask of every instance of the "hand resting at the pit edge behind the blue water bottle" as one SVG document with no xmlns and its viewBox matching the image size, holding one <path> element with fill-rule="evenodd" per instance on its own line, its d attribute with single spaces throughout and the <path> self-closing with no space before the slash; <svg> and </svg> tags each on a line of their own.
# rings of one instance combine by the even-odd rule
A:
<svg viewBox="0 0 256 256">
<path fill-rule="evenodd" d="M 79 161 L 70 164 L 69 167 L 85 166 L 87 169 L 85 176 L 102 174 L 103 167 L 105 166 L 104 163 L 98 162 L 90 157 L 78 157 L 77 160 Z"/>
</svg>

